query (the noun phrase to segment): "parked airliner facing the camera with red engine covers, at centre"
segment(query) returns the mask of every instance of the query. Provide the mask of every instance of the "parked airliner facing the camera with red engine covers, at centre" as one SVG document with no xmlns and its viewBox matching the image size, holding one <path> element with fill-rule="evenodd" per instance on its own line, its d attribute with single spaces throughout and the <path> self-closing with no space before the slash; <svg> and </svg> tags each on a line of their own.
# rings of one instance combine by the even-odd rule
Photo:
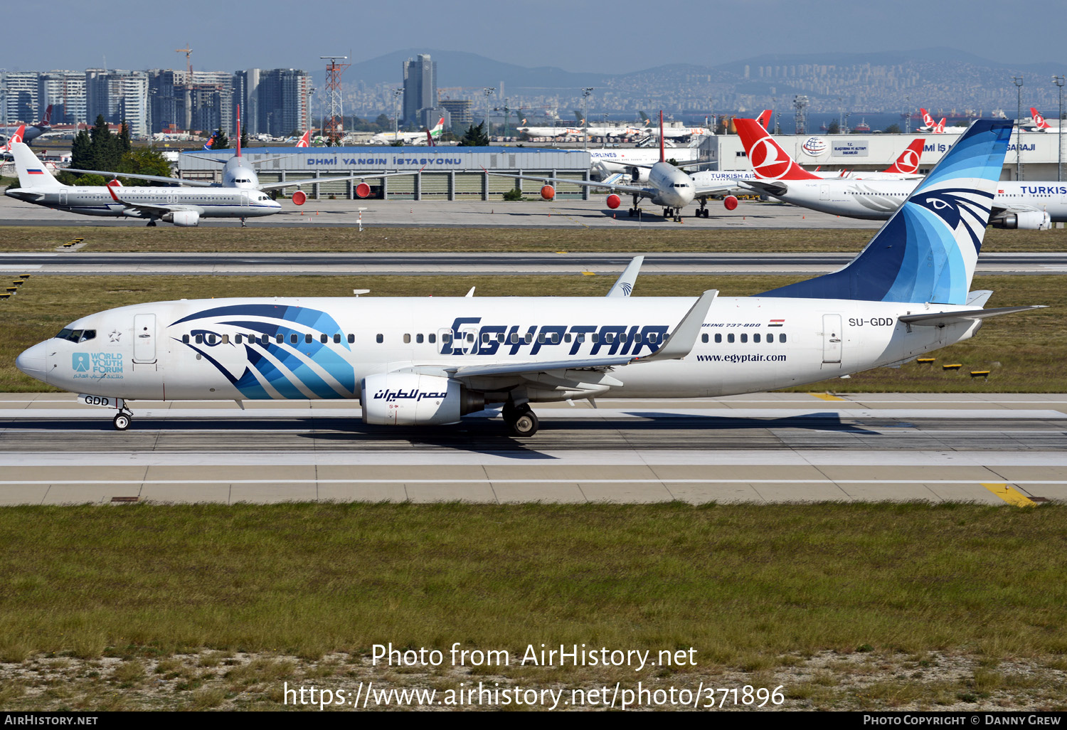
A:
<svg viewBox="0 0 1067 730">
<path fill-rule="evenodd" d="M 659 126 L 663 127 L 663 112 L 659 112 Z M 691 164 L 700 164 L 700 162 L 686 162 L 678 166 L 667 162 L 664 154 L 664 138 L 660 136 L 658 162 L 652 165 L 630 162 L 626 165 L 631 168 L 649 168 L 649 182 L 646 186 L 625 185 L 614 181 L 596 182 L 592 180 L 570 180 L 556 177 L 544 177 L 541 175 L 491 173 L 488 170 L 485 170 L 485 174 L 524 180 L 541 180 L 541 182 L 543 182 L 541 187 L 541 197 L 546 201 L 551 201 L 556 196 L 556 189 L 553 186 L 561 182 L 566 182 L 567 185 L 577 185 L 585 188 L 607 189 L 611 191 L 607 196 L 607 207 L 612 210 L 618 208 L 622 203 L 622 199 L 619 196 L 619 193 L 633 195 L 634 207 L 628 211 L 631 216 L 641 215 L 641 209 L 638 207 L 637 202 L 642 197 L 648 197 L 652 201 L 653 205 L 663 206 L 664 218 L 673 217 L 675 222 L 681 222 L 682 209 L 689 205 L 689 203 L 694 200 L 700 201 L 700 209 L 697 210 L 697 217 L 699 218 L 702 216 L 707 218 L 707 199 L 712 195 L 728 192 L 736 187 L 736 182 L 734 180 L 731 180 L 730 182 L 711 182 L 706 185 L 698 184 L 692 177 L 689 177 L 689 175 L 681 170 L 681 168 Z M 732 210 L 733 208 L 730 209 Z"/>
</svg>

